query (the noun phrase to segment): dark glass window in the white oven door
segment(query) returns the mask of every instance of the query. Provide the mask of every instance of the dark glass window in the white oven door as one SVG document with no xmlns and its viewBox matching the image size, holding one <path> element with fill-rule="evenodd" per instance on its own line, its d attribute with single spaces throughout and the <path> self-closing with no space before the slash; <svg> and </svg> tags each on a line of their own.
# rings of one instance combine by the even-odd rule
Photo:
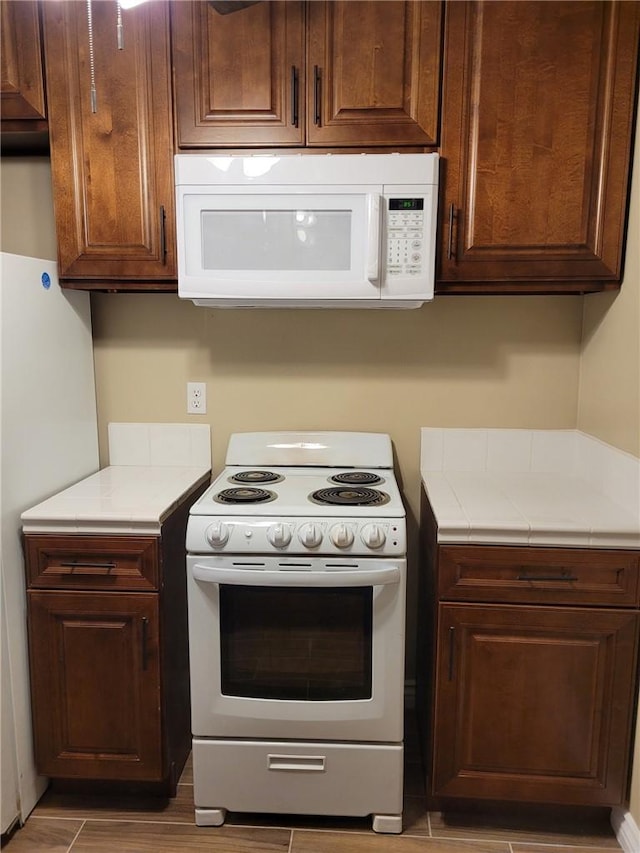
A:
<svg viewBox="0 0 640 853">
<path fill-rule="evenodd" d="M 221 585 L 223 695 L 370 699 L 372 607 L 371 587 Z"/>
</svg>

